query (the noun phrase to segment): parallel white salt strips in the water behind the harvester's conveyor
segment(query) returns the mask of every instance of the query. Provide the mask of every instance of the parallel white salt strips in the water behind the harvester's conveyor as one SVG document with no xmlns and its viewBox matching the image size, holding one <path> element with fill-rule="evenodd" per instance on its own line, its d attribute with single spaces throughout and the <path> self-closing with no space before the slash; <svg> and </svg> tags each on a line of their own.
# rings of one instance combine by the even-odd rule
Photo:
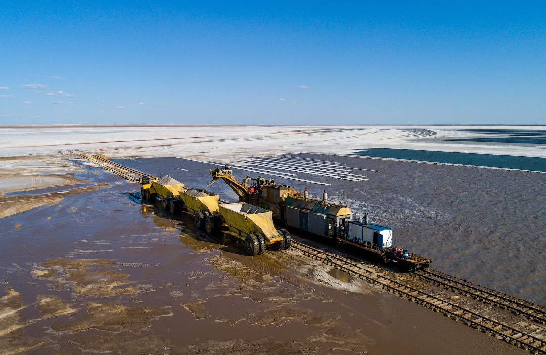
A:
<svg viewBox="0 0 546 355">
<path fill-rule="evenodd" d="M 210 161 L 207 163 L 225 165 L 221 162 Z M 352 168 L 343 163 L 294 156 L 250 157 L 232 161 L 227 165 L 232 169 L 251 171 L 264 176 L 277 176 L 278 178 L 311 182 L 318 185 L 330 184 L 306 179 L 307 176 L 302 178 L 299 174 L 349 181 L 366 181 L 369 179 L 366 178 L 366 175 L 361 175 L 361 171 L 379 172 L 377 170 Z"/>
</svg>

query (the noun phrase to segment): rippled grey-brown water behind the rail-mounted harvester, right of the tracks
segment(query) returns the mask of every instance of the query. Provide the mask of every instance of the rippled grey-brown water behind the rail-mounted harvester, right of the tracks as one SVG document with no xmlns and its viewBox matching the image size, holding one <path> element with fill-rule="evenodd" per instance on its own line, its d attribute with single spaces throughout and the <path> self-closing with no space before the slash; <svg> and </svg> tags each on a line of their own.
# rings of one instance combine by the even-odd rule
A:
<svg viewBox="0 0 546 355">
<path fill-rule="evenodd" d="M 435 269 L 546 305 L 546 174 L 333 155 L 284 157 L 378 170 L 364 171 L 369 181 L 303 173 L 298 178 L 331 184 L 331 199 L 348 201 L 355 215 L 367 212 L 372 222 L 394 227 L 394 244 L 429 257 Z M 199 187 L 210 181 L 208 169 L 215 167 L 176 158 L 120 162 Z M 314 196 L 324 188 L 281 178 L 276 182 L 308 187 Z M 216 184 L 211 190 L 236 199 L 223 182 Z"/>
</svg>

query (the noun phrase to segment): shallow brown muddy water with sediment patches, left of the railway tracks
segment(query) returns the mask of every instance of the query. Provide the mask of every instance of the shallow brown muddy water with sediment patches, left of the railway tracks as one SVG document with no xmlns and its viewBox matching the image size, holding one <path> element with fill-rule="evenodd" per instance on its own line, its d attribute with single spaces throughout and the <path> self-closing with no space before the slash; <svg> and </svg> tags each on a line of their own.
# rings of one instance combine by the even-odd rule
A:
<svg viewBox="0 0 546 355">
<path fill-rule="evenodd" d="M 0 353 L 524 353 L 293 251 L 247 257 L 93 173 L 108 185 L 0 219 Z"/>
</svg>

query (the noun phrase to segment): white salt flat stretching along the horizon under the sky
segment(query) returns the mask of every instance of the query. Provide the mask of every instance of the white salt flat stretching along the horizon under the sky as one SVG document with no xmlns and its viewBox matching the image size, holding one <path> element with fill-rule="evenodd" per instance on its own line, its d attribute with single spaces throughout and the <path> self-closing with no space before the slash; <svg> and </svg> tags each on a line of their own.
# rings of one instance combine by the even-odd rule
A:
<svg viewBox="0 0 546 355">
<path fill-rule="evenodd" d="M 541 131 L 546 126 L 0 126 L 0 156 L 92 151 L 112 157 L 176 156 L 207 161 L 281 153 L 348 154 L 375 147 L 546 157 L 540 144 L 450 139 L 480 130 Z M 503 137 L 488 133 L 488 137 Z"/>
</svg>

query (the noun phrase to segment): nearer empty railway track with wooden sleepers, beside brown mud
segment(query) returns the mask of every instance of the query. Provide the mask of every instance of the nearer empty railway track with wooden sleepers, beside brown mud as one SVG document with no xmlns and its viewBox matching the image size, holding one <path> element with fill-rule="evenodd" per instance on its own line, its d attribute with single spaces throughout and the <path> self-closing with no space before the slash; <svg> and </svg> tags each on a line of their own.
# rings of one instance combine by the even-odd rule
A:
<svg viewBox="0 0 546 355">
<path fill-rule="evenodd" d="M 381 286 L 391 293 L 401 295 L 403 298 L 407 297 L 411 301 L 415 301 L 416 303 L 437 312 L 441 311 L 446 316 L 451 317 L 456 321 L 462 320 L 468 326 L 473 326 L 486 334 L 496 334 L 500 336 L 501 339 L 514 346 L 523 347 L 525 350 L 534 351 L 536 354 L 546 354 L 546 341 L 526 334 L 522 330 L 513 328 L 508 324 L 482 316 L 479 313 L 467 310 L 462 306 L 440 299 L 422 290 L 404 285 L 400 281 L 390 279 L 387 276 L 376 274 L 375 277 L 371 277 L 370 275 L 361 272 L 360 270 L 363 268 L 359 265 L 343 260 L 341 257 L 332 253 L 318 250 L 294 240 L 292 241 L 292 247 L 301 251 L 305 256 L 310 256 L 324 264 L 338 267 L 340 270 L 346 271 L 350 275 L 366 280 L 373 285 Z M 346 265 L 350 265 L 350 267 L 347 267 Z M 354 270 L 354 268 L 358 268 L 359 270 Z M 525 342 L 524 340 L 529 341 Z M 544 348 L 544 350 L 542 348 Z"/>
</svg>

